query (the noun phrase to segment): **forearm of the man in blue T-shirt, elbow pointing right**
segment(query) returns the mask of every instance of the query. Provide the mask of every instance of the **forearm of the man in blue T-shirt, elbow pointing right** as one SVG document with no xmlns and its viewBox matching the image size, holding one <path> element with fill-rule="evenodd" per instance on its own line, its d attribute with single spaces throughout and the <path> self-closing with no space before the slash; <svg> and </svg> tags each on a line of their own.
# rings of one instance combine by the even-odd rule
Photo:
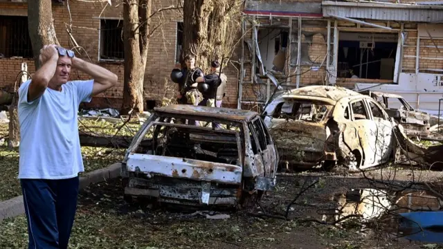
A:
<svg viewBox="0 0 443 249">
<path fill-rule="evenodd" d="M 73 68 L 76 68 L 84 73 L 91 75 L 91 77 L 93 77 L 94 79 L 94 82 L 97 82 L 98 84 L 114 85 L 117 82 L 116 74 L 112 73 L 106 68 L 103 68 L 102 66 L 85 62 L 83 59 L 74 57 L 72 59 L 72 66 Z"/>
</svg>

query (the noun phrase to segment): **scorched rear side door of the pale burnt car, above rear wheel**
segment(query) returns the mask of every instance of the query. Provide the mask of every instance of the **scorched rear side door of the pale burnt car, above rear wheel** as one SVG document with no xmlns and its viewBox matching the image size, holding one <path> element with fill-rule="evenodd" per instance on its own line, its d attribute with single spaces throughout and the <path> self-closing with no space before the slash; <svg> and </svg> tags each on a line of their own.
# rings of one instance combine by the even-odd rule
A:
<svg viewBox="0 0 443 249">
<path fill-rule="evenodd" d="M 377 155 L 377 124 L 370 116 L 363 99 L 352 100 L 350 102 L 351 120 L 354 123 L 356 133 L 363 149 L 363 162 L 361 168 L 371 167 L 376 164 Z"/>
</svg>

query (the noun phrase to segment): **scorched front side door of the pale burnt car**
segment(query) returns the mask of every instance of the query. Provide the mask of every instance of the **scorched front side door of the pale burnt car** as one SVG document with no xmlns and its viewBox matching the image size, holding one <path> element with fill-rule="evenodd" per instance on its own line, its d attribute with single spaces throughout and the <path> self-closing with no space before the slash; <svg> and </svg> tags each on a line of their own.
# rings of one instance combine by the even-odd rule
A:
<svg viewBox="0 0 443 249">
<path fill-rule="evenodd" d="M 370 114 L 378 129 L 376 163 L 386 163 L 392 153 L 392 123 L 383 112 L 379 104 L 374 100 L 367 99 Z"/>
</svg>

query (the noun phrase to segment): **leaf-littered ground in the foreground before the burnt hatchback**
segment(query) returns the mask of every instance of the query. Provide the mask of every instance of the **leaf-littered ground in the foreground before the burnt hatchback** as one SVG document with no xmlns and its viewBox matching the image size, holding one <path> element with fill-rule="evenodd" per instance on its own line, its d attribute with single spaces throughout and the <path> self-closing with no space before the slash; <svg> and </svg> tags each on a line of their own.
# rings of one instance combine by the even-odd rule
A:
<svg viewBox="0 0 443 249">
<path fill-rule="evenodd" d="M 282 212 L 300 188 L 297 181 L 300 178 L 279 178 L 278 190 L 261 202 L 264 210 Z M 308 190 L 309 204 L 322 201 L 327 205 L 318 192 L 327 192 L 332 183 L 328 178 L 325 187 Z M 300 205 L 291 211 L 292 221 L 260 219 L 249 216 L 251 210 L 213 211 L 228 213 L 230 218 L 206 219 L 183 207 L 152 209 L 143 202 L 128 204 L 123 200 L 121 179 L 113 179 L 80 192 L 69 248 L 404 248 L 404 244 L 378 237 L 363 237 L 356 228 L 299 223 L 296 216 L 305 218 L 315 212 Z M 0 223 L 0 248 L 26 248 L 27 241 L 24 215 Z"/>
</svg>

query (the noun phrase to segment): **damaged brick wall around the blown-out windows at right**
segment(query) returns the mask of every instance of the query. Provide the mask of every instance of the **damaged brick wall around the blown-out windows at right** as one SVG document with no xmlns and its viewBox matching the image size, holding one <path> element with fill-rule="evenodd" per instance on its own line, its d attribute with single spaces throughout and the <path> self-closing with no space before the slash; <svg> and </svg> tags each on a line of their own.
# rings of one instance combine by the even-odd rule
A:
<svg viewBox="0 0 443 249">
<path fill-rule="evenodd" d="M 394 2 L 394 1 L 393 1 Z M 417 2 L 417 1 L 414 1 Z M 405 3 L 402 1 L 402 3 Z M 248 17 L 249 20 L 251 20 L 253 17 Z M 291 88 L 294 88 L 296 86 L 297 81 L 297 73 L 296 73 L 296 66 L 297 66 L 297 60 L 298 60 L 298 17 L 260 17 L 256 16 L 256 22 L 260 24 L 258 28 L 264 28 L 263 26 L 273 24 L 274 26 L 284 26 L 289 27 L 289 18 L 292 18 L 292 24 L 291 24 L 291 57 L 290 57 L 290 72 L 289 75 L 290 81 L 288 82 L 289 85 L 291 85 Z M 395 34 L 398 37 L 399 30 L 401 29 L 401 24 L 399 22 L 395 21 L 370 21 L 371 24 L 376 24 L 379 26 L 389 26 L 392 28 L 392 31 L 381 29 L 381 28 L 374 28 L 369 25 L 364 24 L 355 24 L 353 22 L 349 21 L 337 21 L 337 27 L 338 27 L 338 37 L 340 37 L 340 33 L 343 32 L 358 32 L 358 33 L 374 33 L 374 34 Z M 252 27 L 251 21 L 246 21 L 248 23 L 248 28 Z M 404 75 L 401 73 L 415 73 L 416 68 L 416 55 L 417 55 L 417 34 L 418 34 L 418 25 L 416 23 L 404 23 L 404 34 L 405 41 L 404 41 L 404 48 L 403 48 L 403 54 L 399 53 L 398 55 L 401 56 L 401 61 L 397 58 L 397 53 L 392 54 L 390 58 L 394 58 L 394 62 L 401 62 L 397 66 L 397 71 L 399 73 L 399 80 L 404 81 Z M 289 29 L 289 28 L 288 28 Z M 441 32 L 438 31 L 440 28 L 435 27 L 435 25 L 428 24 L 428 29 L 433 30 L 432 36 L 436 37 L 434 39 L 431 39 L 428 37 L 427 33 L 421 32 L 420 35 L 420 42 L 419 42 L 419 73 L 431 73 L 431 76 L 441 74 L 443 72 L 443 28 L 441 28 Z M 436 31 L 437 30 L 437 31 Z M 334 19 L 331 21 L 330 26 L 330 44 L 329 44 L 329 71 L 326 70 L 326 64 L 327 64 L 327 58 L 325 57 L 327 55 L 327 20 L 326 19 L 316 19 L 316 18 L 304 18 L 302 19 L 302 28 L 301 28 L 301 46 L 300 46 L 300 80 L 299 84 L 300 86 L 307 86 L 310 84 L 325 84 L 327 75 L 334 75 L 334 62 L 336 58 L 334 57 Z M 246 34 L 246 37 L 252 37 Z M 249 38 L 251 39 L 251 38 Z M 259 37 L 260 39 L 260 37 Z M 381 39 L 381 38 L 379 38 Z M 383 38 L 387 39 L 387 38 Z M 251 40 L 252 42 L 252 40 Z M 260 42 L 260 40 L 259 40 Z M 381 41 L 383 42 L 383 41 Z M 388 42 L 388 40 L 386 40 Z M 391 44 L 397 44 L 397 38 L 392 42 Z M 377 42 L 376 42 L 377 43 Z M 391 46 L 391 45 L 390 45 Z M 394 45 L 395 46 L 395 45 Z M 438 48 L 435 48 L 435 46 L 438 46 Z M 440 48 L 441 46 L 441 48 Z M 398 50 L 399 46 L 397 45 L 396 50 Z M 440 51 L 439 51 L 440 48 Z M 248 61 L 251 58 L 251 50 L 248 49 L 246 46 L 245 49 L 245 61 Z M 269 60 L 269 59 L 268 59 Z M 386 60 L 384 61 L 386 62 Z M 252 64 L 255 63 L 255 73 L 262 73 L 260 69 L 260 62 L 255 59 L 255 62 L 252 62 Z M 395 68 L 395 65 L 392 66 Z M 247 84 L 251 84 L 251 73 L 254 73 L 251 66 L 249 64 L 244 64 L 244 72 L 247 80 L 244 80 Z M 269 68 L 269 65 L 266 65 L 266 69 Z M 364 70 L 364 69 L 363 69 Z M 386 73 L 383 71 L 383 73 Z M 381 73 L 380 73 L 381 74 Z M 278 74 L 274 75 L 277 77 Z M 374 73 L 373 73 L 374 75 Z M 386 75 L 386 74 L 383 74 Z M 394 72 L 394 75 L 395 72 Z M 285 75 L 281 75 L 278 77 L 279 82 L 285 81 Z M 337 75 L 338 76 L 338 75 Z M 428 75 L 429 76 L 429 75 Z M 431 76 L 428 77 L 427 81 L 435 81 L 435 84 L 441 84 L 443 86 L 443 77 L 440 78 L 440 80 L 431 79 Z M 254 80 L 254 83 L 257 84 L 266 84 L 266 77 L 262 76 L 263 79 L 261 80 Z M 333 76 L 332 76 L 333 77 Z M 340 76 L 338 76 L 340 77 Z M 374 76 L 372 76 L 374 77 Z M 379 79 L 379 80 L 378 80 Z M 383 80 L 386 79 L 386 80 Z M 338 85 L 345 86 L 350 89 L 354 89 L 356 82 L 368 82 L 368 83 L 374 83 L 376 82 L 379 84 L 380 82 L 385 81 L 387 84 L 395 84 L 394 82 L 397 81 L 397 78 L 393 77 L 392 80 L 388 76 L 383 76 L 383 78 L 376 78 L 376 79 L 351 79 L 349 78 L 339 78 L 337 80 Z M 410 84 L 413 84 L 414 87 L 417 87 L 417 84 L 419 82 L 423 82 L 423 80 L 415 80 L 411 81 Z M 369 84 L 368 84 L 369 85 Z M 428 86 L 428 84 L 426 84 Z M 258 86 L 254 86 L 255 88 L 258 88 Z M 256 100 L 257 96 L 251 95 L 253 93 L 252 90 L 253 87 L 246 86 L 243 84 L 243 88 L 245 91 L 243 92 L 242 100 Z M 261 86 L 260 89 L 266 90 L 266 86 Z M 440 91 L 440 90 L 439 90 Z"/>
</svg>

